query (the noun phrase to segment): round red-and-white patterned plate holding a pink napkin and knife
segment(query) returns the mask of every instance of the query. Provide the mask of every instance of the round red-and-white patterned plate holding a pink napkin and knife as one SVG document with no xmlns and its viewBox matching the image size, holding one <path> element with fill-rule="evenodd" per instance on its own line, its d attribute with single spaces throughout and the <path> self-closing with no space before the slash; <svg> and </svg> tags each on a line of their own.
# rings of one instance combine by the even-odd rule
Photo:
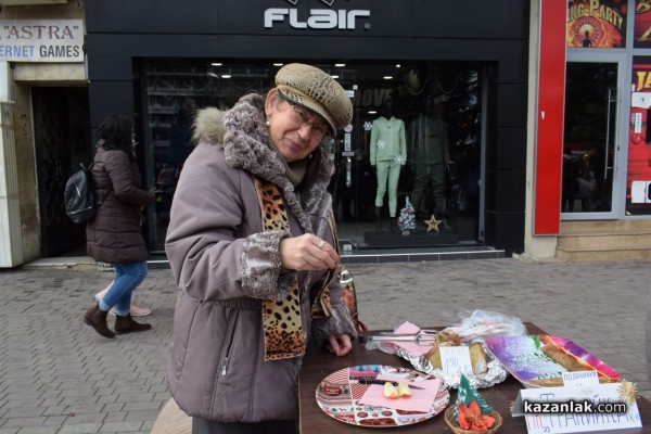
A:
<svg viewBox="0 0 651 434">
<path fill-rule="evenodd" d="M 427 412 L 360 404 L 359 400 L 370 387 L 368 384 L 361 384 L 360 380 L 374 380 L 378 375 L 403 378 L 414 383 L 433 380 L 431 375 L 408 368 L 359 365 L 341 369 L 323 379 L 317 386 L 317 404 L 326 414 L 339 421 L 358 426 L 388 427 L 411 425 L 431 419 L 445 410 L 450 400 L 449 392 L 441 382 L 432 408 Z"/>
</svg>

